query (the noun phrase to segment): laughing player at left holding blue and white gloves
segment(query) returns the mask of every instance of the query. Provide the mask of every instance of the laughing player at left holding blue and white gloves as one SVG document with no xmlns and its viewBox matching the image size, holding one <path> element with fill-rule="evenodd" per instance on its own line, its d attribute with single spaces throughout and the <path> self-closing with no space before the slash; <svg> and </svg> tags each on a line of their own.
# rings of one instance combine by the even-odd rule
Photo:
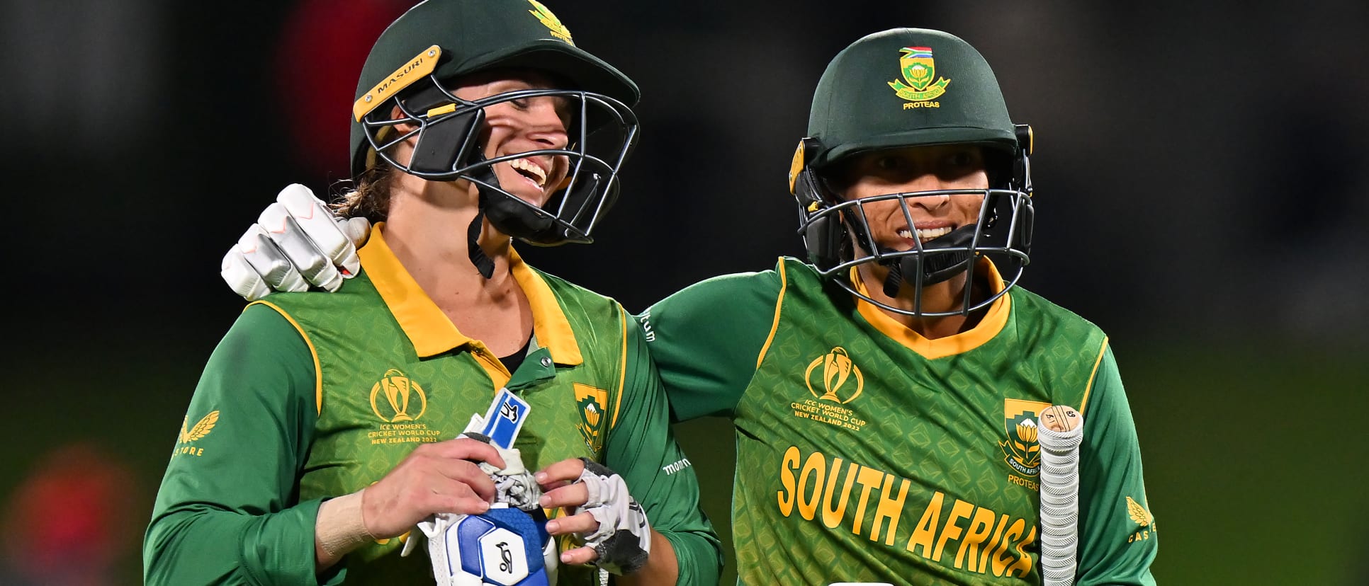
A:
<svg viewBox="0 0 1369 586">
<path fill-rule="evenodd" d="M 146 583 L 716 583 L 720 544 L 643 335 L 511 245 L 590 238 L 637 98 L 538 1 L 427 0 L 392 23 L 352 112 L 345 208 L 375 227 L 340 258 L 352 279 L 334 269 L 335 294 L 251 303 L 209 358 L 146 530 Z M 238 250 L 277 246 L 267 229 L 287 224 L 333 228 L 315 205 L 285 190 Z M 424 529 L 433 556 L 402 555 L 416 526 L 494 519 L 497 499 L 552 519 L 470 540 Z"/>
</svg>

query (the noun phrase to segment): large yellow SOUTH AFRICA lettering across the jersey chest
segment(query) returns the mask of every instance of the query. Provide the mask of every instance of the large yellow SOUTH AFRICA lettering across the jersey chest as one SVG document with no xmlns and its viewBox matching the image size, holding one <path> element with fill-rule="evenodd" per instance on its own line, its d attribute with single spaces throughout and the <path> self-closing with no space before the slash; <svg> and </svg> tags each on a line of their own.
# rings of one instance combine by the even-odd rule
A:
<svg viewBox="0 0 1369 586">
<path fill-rule="evenodd" d="M 821 452 L 789 447 L 780 459 L 779 512 L 905 549 L 932 563 L 995 576 L 1031 574 L 1036 523 L 935 492 L 921 511 L 905 510 L 906 478 Z M 858 488 L 857 488 L 858 485 Z M 872 515 L 867 512 L 873 511 Z M 899 520 L 917 515 L 912 529 Z M 954 557 L 951 557 L 954 552 Z"/>
</svg>

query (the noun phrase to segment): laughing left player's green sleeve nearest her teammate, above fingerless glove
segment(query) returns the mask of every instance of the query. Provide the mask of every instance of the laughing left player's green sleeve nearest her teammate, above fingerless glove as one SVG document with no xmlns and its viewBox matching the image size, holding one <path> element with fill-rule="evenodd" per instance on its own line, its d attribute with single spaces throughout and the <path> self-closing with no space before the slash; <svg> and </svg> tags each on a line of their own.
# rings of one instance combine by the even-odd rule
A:
<svg viewBox="0 0 1369 586">
<path fill-rule="evenodd" d="M 626 363 L 605 464 L 623 477 L 652 529 L 669 540 L 680 585 L 716 585 L 723 546 L 700 505 L 698 477 L 671 432 L 669 407 L 642 332 L 623 311 Z"/>
</svg>

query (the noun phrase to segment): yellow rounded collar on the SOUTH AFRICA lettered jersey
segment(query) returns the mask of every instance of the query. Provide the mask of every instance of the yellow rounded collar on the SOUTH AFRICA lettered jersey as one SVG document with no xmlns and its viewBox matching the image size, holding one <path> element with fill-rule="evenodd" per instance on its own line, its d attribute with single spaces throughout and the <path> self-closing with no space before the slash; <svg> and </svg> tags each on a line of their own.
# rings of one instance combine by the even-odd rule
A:
<svg viewBox="0 0 1369 586">
<path fill-rule="evenodd" d="M 993 290 L 993 294 L 1002 291 L 1003 277 L 998 275 L 998 268 L 994 266 L 994 262 L 988 258 L 980 258 L 979 265 L 977 270 L 983 270 L 986 268 L 988 269 L 988 285 Z M 856 291 L 860 291 L 862 295 L 869 295 L 869 291 L 865 290 L 865 281 L 861 280 L 860 273 L 854 266 L 852 266 L 850 279 L 856 285 Z M 986 341 L 994 339 L 998 332 L 1002 332 L 1003 326 L 1008 325 L 1008 314 L 1012 311 L 1013 306 L 1010 295 L 1012 294 L 1008 294 L 994 301 L 994 303 L 988 306 L 988 313 L 984 314 L 984 318 L 968 332 L 960 332 L 957 335 L 938 337 L 935 340 L 923 337 L 923 335 L 912 331 L 904 324 L 899 324 L 893 317 L 888 317 L 888 314 L 879 309 L 879 306 L 858 296 L 856 298 L 856 309 L 860 311 L 861 317 L 869 322 L 869 325 L 873 325 L 875 329 L 880 331 L 883 335 L 894 339 L 894 341 L 898 341 L 899 344 L 906 346 L 909 350 L 921 354 L 923 358 L 936 359 L 975 350 Z"/>
</svg>

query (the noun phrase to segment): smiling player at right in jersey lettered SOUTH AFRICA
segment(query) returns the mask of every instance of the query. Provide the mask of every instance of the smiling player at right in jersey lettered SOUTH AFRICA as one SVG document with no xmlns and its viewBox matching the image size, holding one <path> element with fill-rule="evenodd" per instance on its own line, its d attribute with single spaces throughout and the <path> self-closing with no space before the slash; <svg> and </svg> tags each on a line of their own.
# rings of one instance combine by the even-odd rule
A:
<svg viewBox="0 0 1369 586">
<path fill-rule="evenodd" d="M 964 40 L 862 37 L 819 81 L 791 163 L 808 262 L 709 279 L 638 316 L 675 418 L 735 423 L 741 583 L 1154 583 L 1108 336 L 1016 285 L 1031 150 Z M 1084 422 L 1055 458 L 1073 512 L 1050 531 L 1047 411 Z M 1043 548 L 1068 552 L 1068 576 L 1043 572 Z"/>
</svg>

